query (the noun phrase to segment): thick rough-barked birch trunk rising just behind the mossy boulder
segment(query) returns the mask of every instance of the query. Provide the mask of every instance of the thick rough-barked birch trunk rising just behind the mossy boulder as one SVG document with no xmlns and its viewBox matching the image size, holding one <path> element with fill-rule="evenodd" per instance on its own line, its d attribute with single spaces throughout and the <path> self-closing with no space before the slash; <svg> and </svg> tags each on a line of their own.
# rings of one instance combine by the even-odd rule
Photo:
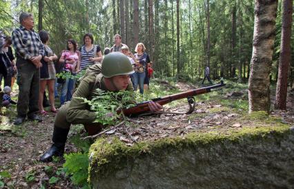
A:
<svg viewBox="0 0 294 189">
<path fill-rule="evenodd" d="M 248 82 L 249 113 L 271 107 L 270 80 L 277 0 L 255 0 L 253 53 Z"/>
</svg>

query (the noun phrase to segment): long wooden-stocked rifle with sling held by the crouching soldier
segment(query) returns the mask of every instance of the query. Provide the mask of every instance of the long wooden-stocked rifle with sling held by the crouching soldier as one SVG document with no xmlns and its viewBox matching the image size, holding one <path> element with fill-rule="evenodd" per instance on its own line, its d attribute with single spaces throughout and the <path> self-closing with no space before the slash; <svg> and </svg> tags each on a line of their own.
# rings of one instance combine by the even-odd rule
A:
<svg viewBox="0 0 294 189">
<path fill-rule="evenodd" d="M 176 93 L 170 96 L 164 96 L 164 97 L 160 97 L 160 98 L 155 98 L 152 99 L 153 102 L 157 102 L 159 103 L 159 105 L 166 105 L 169 102 L 173 102 L 174 100 L 179 100 L 182 98 L 187 98 L 188 100 L 188 105 L 190 106 L 189 111 L 186 112 L 186 114 L 191 114 L 194 109 L 195 109 L 195 99 L 194 96 L 200 95 L 200 94 L 204 94 L 204 93 L 209 93 L 212 91 L 217 91 L 219 89 L 219 87 L 223 87 L 226 84 L 224 84 L 224 82 L 221 80 L 220 84 L 215 84 L 209 87 L 202 87 L 200 89 L 194 89 L 194 90 L 190 90 L 190 91 L 185 91 L 182 93 Z M 213 90 L 216 89 L 216 90 Z M 148 103 L 150 101 L 144 101 L 144 102 L 140 102 L 138 104 L 135 105 L 135 107 L 130 107 L 130 108 L 126 108 L 126 109 L 122 109 L 122 112 L 125 116 L 137 116 L 139 114 L 143 114 L 146 112 L 150 112 L 150 109 L 148 107 Z"/>
</svg>

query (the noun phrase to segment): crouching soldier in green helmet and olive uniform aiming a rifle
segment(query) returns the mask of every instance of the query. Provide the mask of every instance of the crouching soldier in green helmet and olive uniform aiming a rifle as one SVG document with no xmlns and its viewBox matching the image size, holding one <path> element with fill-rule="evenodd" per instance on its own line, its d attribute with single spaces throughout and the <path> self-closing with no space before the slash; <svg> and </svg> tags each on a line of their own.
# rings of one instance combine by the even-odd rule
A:
<svg viewBox="0 0 294 189">
<path fill-rule="evenodd" d="M 96 73 L 99 73 L 100 70 L 101 73 L 95 74 L 95 69 Z M 133 91 L 133 85 L 129 77 L 134 72 L 133 67 L 128 57 L 122 53 L 110 53 L 104 57 L 102 65 L 95 64 L 88 70 L 92 70 L 92 72 L 86 73 L 86 77 L 81 80 L 77 91 L 73 94 L 72 100 L 63 105 L 57 112 L 52 147 L 41 156 L 40 161 L 51 161 L 52 156 L 63 155 L 71 124 L 84 124 L 88 127 L 90 135 L 97 133 L 101 129 L 101 125 L 93 123 L 96 119 L 95 112 L 90 111 L 89 106 L 76 97 L 90 100 L 97 95 L 95 94 L 95 89 L 97 88 L 104 91 Z M 150 102 L 149 108 L 151 111 L 160 111 L 162 106 L 155 102 Z"/>
</svg>

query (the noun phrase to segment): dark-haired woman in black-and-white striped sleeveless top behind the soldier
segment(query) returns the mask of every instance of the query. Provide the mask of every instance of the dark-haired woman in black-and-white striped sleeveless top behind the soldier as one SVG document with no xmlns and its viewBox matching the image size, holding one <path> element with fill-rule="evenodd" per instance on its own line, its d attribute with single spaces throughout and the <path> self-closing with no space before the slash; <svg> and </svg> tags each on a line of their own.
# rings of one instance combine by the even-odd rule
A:
<svg viewBox="0 0 294 189">
<path fill-rule="evenodd" d="M 84 35 L 84 46 L 81 46 L 81 70 L 87 69 L 95 62 L 101 62 L 102 53 L 99 45 L 93 44 L 94 39 L 91 33 Z"/>
</svg>

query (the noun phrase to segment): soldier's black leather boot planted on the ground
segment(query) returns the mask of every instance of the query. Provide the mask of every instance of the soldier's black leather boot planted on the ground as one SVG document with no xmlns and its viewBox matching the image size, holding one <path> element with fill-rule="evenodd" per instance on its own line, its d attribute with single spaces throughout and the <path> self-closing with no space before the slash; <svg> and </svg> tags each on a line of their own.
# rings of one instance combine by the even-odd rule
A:
<svg viewBox="0 0 294 189">
<path fill-rule="evenodd" d="M 40 161 L 48 162 L 52 161 L 53 156 L 63 156 L 64 147 L 66 146 L 66 139 L 68 138 L 68 132 L 70 129 L 63 129 L 60 127 L 54 127 L 52 141 L 53 144 L 50 149 L 40 157 Z"/>
</svg>

